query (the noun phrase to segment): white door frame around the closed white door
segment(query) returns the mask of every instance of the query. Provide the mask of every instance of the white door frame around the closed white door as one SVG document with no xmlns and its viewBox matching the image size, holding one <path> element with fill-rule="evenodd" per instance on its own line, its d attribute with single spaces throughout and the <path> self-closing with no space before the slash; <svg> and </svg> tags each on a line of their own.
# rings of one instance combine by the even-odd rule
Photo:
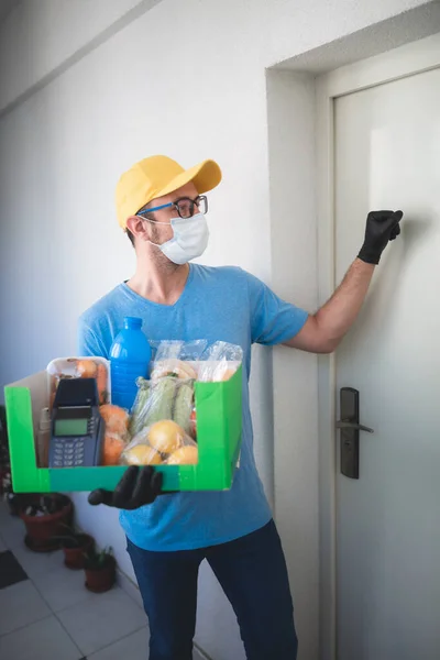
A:
<svg viewBox="0 0 440 660">
<path fill-rule="evenodd" d="M 337 98 L 440 67 L 440 33 L 316 79 L 318 299 L 334 292 L 334 101 Z M 355 255 L 353 255 L 354 260 Z M 339 284 L 339 283 L 338 283 Z M 318 361 L 320 657 L 338 658 L 336 358 Z"/>
</svg>

